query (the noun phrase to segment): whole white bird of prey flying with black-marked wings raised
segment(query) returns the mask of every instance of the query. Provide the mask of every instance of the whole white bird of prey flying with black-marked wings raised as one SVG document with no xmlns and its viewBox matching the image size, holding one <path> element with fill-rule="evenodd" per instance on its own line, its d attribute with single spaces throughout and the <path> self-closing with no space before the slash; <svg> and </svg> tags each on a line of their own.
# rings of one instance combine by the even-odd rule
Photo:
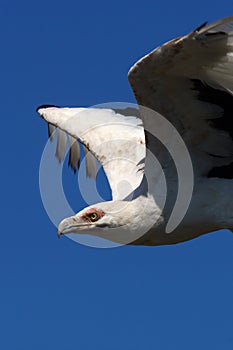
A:
<svg viewBox="0 0 233 350">
<path fill-rule="evenodd" d="M 233 230 L 233 16 L 204 23 L 129 71 L 138 108 L 38 107 L 56 155 L 103 167 L 112 200 L 65 218 L 58 235 L 167 245 Z M 68 138 L 67 138 L 68 135 Z M 48 175 L 49 176 L 49 175 Z"/>
</svg>

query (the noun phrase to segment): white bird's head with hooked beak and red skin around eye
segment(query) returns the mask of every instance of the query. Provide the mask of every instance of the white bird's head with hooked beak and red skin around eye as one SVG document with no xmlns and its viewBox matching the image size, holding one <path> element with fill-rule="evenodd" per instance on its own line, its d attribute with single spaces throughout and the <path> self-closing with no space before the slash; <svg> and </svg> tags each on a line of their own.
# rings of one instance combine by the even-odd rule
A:
<svg viewBox="0 0 233 350">
<path fill-rule="evenodd" d="M 128 243 L 141 232 L 143 223 L 132 201 L 109 201 L 87 207 L 61 221 L 58 237 L 68 233 L 99 236 L 119 243 Z"/>
</svg>

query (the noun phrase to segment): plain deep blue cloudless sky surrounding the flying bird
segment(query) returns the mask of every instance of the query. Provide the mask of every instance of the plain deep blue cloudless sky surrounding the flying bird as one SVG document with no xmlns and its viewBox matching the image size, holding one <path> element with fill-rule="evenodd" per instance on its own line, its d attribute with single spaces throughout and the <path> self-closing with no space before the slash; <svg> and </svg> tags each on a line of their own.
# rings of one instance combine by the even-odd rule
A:
<svg viewBox="0 0 233 350">
<path fill-rule="evenodd" d="M 58 240 L 40 198 L 47 128 L 35 112 L 134 102 L 138 58 L 231 14 L 225 0 L 1 2 L 1 348 L 233 348 L 232 234 L 105 250 Z"/>
</svg>

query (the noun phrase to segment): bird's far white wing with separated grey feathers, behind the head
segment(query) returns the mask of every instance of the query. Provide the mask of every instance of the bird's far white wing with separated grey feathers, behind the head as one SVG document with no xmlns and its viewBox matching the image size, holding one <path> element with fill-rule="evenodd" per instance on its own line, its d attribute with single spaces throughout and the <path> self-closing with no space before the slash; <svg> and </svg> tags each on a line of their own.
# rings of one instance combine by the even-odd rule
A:
<svg viewBox="0 0 233 350">
<path fill-rule="evenodd" d="M 58 159 L 62 161 L 64 158 L 68 134 L 69 164 L 74 170 L 78 168 L 80 150 L 77 140 L 80 141 L 85 147 L 87 175 L 96 176 L 96 158 L 106 173 L 114 200 L 124 199 L 140 185 L 145 159 L 145 136 L 141 119 L 135 117 L 137 110 L 44 105 L 38 107 L 37 111 L 48 122 L 51 139 L 58 128 Z"/>
</svg>

